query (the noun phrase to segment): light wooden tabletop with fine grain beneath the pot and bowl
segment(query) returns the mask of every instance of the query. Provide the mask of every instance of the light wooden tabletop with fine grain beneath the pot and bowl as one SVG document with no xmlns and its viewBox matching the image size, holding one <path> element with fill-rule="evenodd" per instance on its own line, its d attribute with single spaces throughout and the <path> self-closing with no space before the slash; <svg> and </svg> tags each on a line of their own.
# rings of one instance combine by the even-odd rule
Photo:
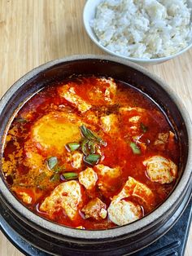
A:
<svg viewBox="0 0 192 256">
<path fill-rule="evenodd" d="M 77 54 L 104 54 L 85 33 L 85 0 L 0 1 L 0 96 L 29 70 Z M 192 118 L 192 50 L 164 64 L 146 67 L 181 97 Z M 191 138 L 190 138 L 191 139 Z M 23 255 L 0 234 L 0 255 Z M 192 255 L 192 228 L 185 256 Z"/>
</svg>

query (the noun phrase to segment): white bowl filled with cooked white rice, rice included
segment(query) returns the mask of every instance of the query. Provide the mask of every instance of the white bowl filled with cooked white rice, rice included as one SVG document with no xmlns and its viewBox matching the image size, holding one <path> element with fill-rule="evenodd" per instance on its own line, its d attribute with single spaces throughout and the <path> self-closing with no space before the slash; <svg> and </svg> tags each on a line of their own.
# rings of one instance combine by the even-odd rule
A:
<svg viewBox="0 0 192 256">
<path fill-rule="evenodd" d="M 192 46 L 192 0 L 88 0 L 89 38 L 108 54 L 158 64 Z"/>
</svg>

